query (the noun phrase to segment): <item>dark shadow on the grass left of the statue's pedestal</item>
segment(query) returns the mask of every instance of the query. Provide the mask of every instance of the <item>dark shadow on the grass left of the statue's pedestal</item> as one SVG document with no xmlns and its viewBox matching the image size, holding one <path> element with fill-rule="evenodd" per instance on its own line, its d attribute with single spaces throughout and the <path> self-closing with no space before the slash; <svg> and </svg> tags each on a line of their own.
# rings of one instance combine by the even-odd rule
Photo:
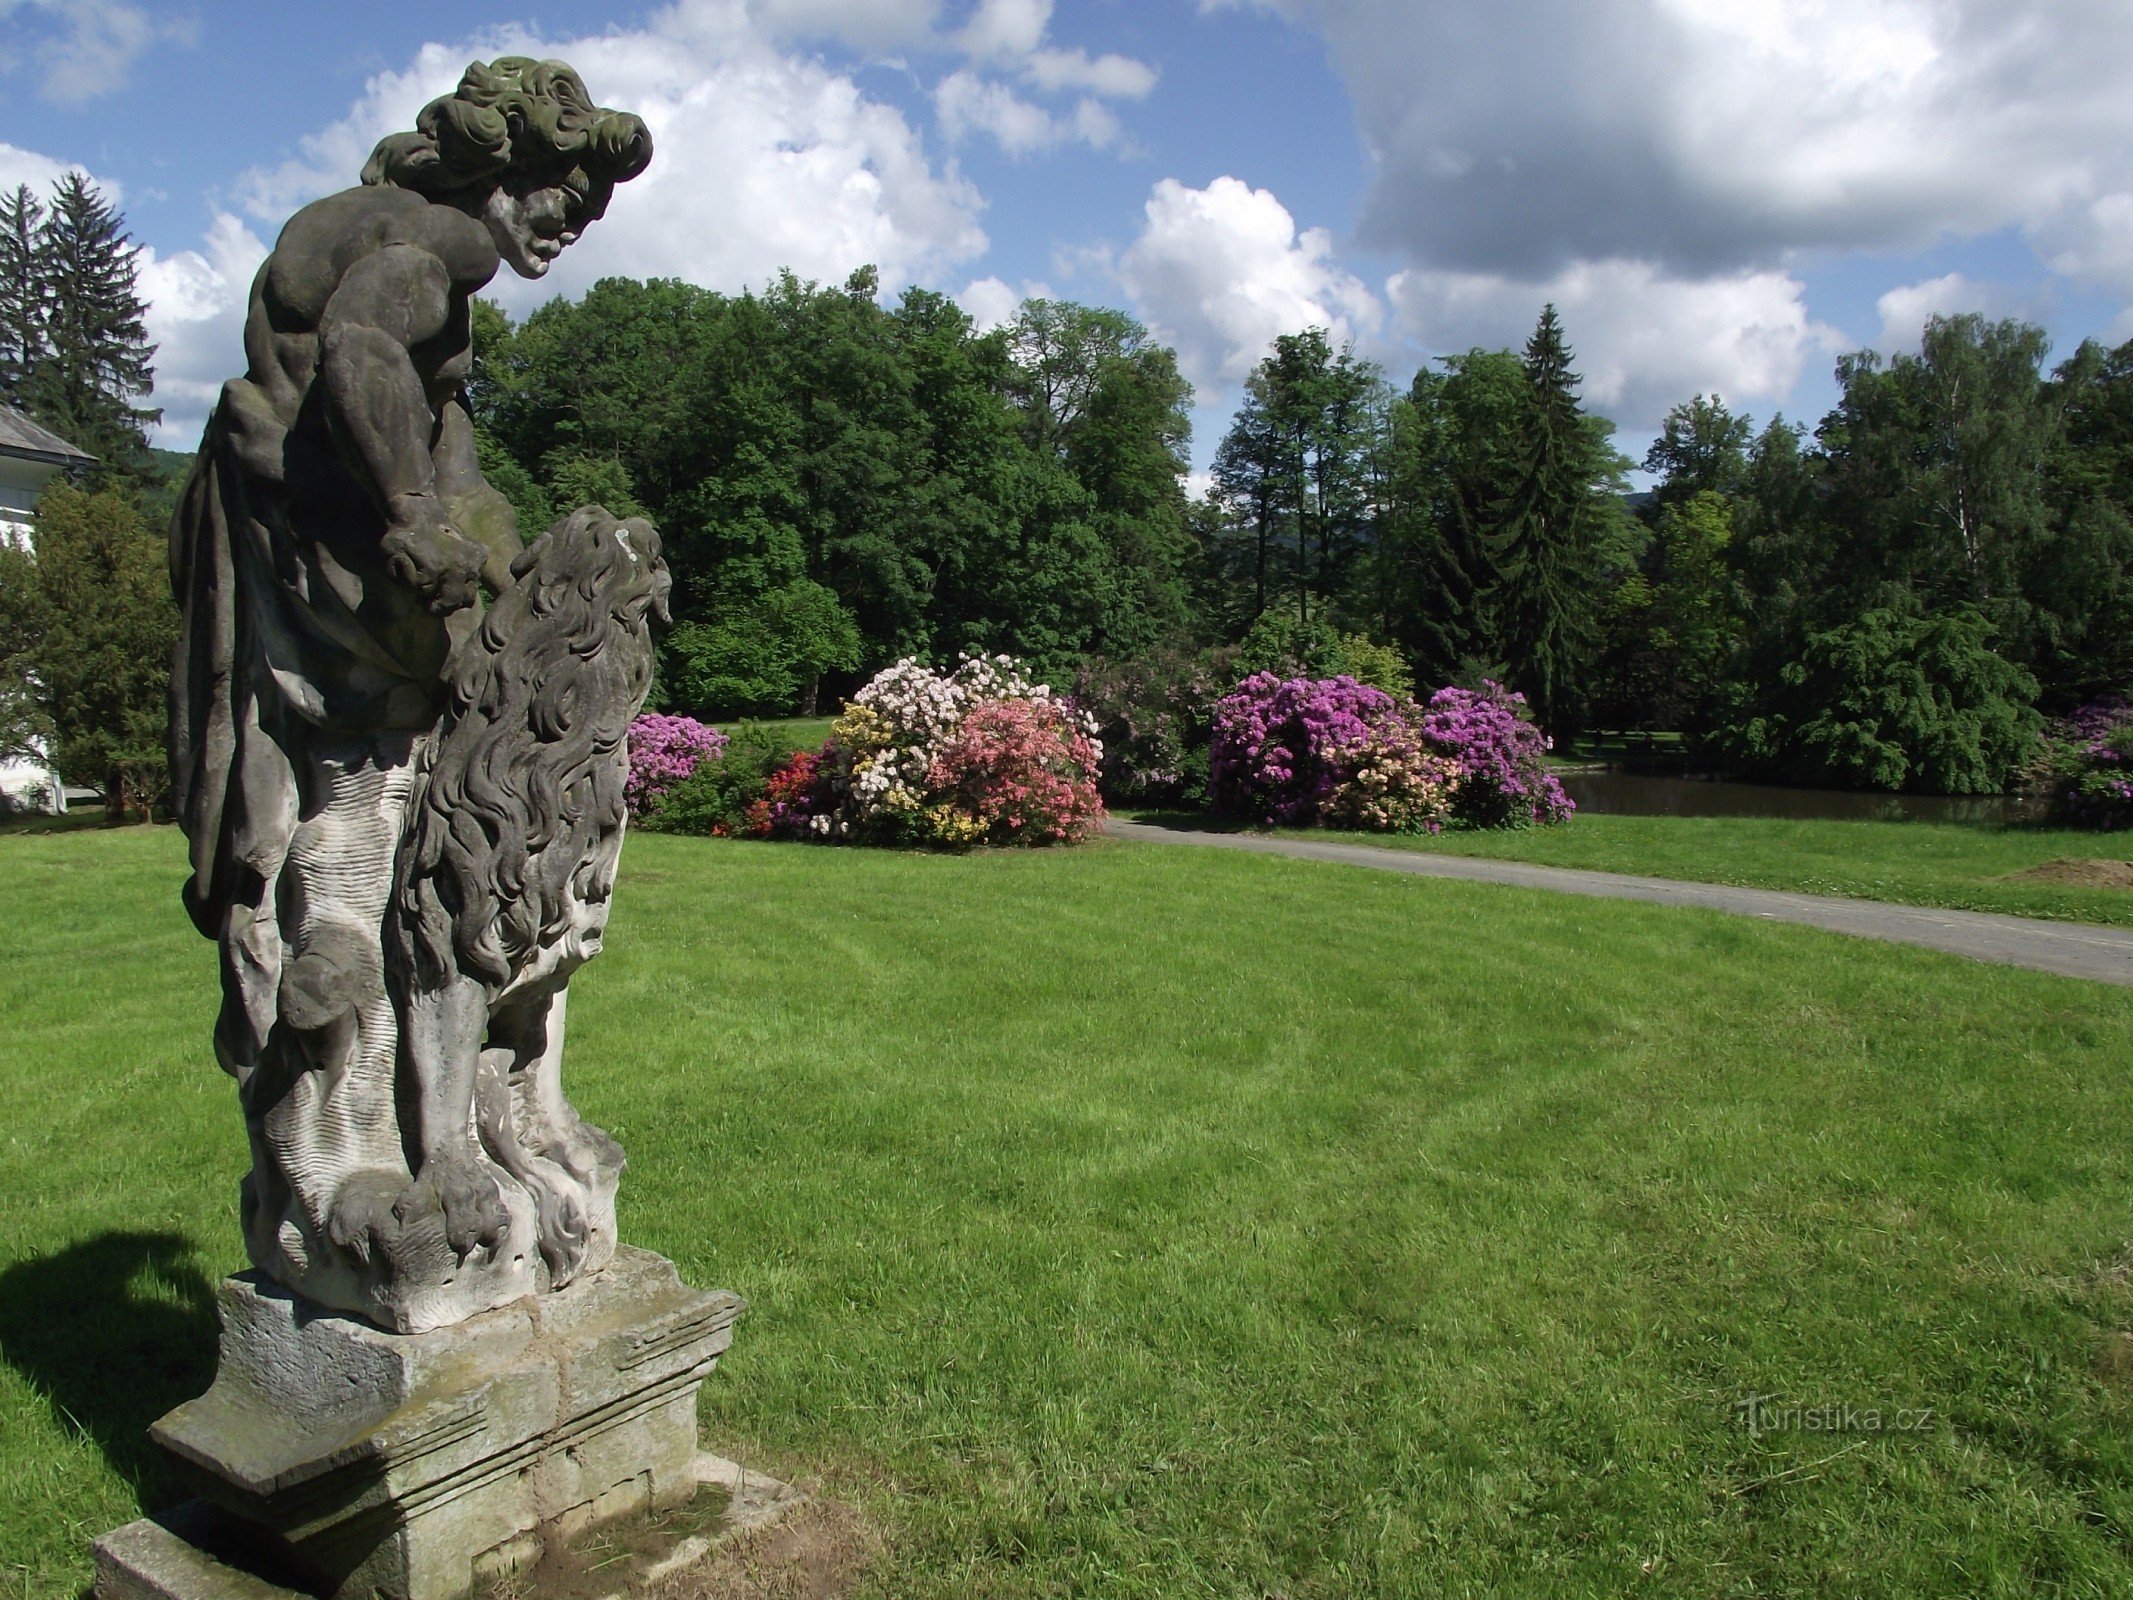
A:
<svg viewBox="0 0 2133 1600">
<path fill-rule="evenodd" d="M 215 1376 L 215 1289 L 177 1233 L 102 1233 L 0 1271 L 0 1359 L 143 1506 L 177 1481 L 147 1425 Z"/>
</svg>

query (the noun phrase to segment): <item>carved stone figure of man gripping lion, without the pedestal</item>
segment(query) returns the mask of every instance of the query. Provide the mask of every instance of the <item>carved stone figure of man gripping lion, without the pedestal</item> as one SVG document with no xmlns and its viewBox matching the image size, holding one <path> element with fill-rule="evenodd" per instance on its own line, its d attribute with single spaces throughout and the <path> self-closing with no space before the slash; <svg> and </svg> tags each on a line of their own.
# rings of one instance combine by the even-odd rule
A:
<svg viewBox="0 0 2133 1600">
<path fill-rule="evenodd" d="M 668 572 L 597 506 L 520 546 L 476 461 L 469 299 L 651 160 L 561 62 L 467 68 L 252 286 L 171 529 L 186 907 L 252 1137 L 252 1263 L 384 1329 L 614 1254 L 621 1148 L 563 1099 Z"/>
</svg>

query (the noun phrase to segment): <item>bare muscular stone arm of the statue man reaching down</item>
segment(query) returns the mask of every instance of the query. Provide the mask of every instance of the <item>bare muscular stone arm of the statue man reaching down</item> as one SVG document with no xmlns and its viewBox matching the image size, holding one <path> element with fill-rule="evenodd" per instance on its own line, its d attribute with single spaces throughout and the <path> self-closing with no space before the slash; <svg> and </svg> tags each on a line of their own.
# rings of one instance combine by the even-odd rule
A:
<svg viewBox="0 0 2133 1600">
<path fill-rule="evenodd" d="M 459 535 L 437 495 L 437 412 L 410 350 L 444 333 L 452 279 L 420 245 L 386 245 L 341 277 L 318 322 L 318 378 L 333 435 L 386 516 L 392 576 L 435 610 L 476 595 L 482 548 Z"/>
</svg>

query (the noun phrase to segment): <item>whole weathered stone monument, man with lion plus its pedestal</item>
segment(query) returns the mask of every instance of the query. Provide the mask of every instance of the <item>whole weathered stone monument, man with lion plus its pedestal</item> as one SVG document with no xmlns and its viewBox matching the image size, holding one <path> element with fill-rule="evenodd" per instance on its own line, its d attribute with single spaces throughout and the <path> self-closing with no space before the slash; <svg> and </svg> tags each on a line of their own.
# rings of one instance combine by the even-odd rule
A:
<svg viewBox="0 0 2133 1600">
<path fill-rule="evenodd" d="M 149 1429 L 196 1500 L 96 1540 L 98 1600 L 465 1600 L 704 1487 L 793 1504 L 697 1449 L 744 1306 L 616 1244 L 623 1152 L 563 1099 L 659 535 L 584 506 L 520 544 L 465 397 L 469 297 L 648 160 L 561 62 L 474 64 L 252 286 L 171 523 L 171 774 L 254 1271 Z"/>
</svg>

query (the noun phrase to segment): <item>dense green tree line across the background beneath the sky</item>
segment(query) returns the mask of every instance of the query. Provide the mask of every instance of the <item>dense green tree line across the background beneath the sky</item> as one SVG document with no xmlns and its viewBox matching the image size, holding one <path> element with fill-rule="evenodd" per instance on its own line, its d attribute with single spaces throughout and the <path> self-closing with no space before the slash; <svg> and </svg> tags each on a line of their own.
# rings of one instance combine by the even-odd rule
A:
<svg viewBox="0 0 2133 1600">
<path fill-rule="evenodd" d="M 96 678 L 60 659 L 94 631 L 81 585 L 109 570 L 124 642 L 77 655 L 151 659 L 162 604 L 134 260 L 79 175 L 49 207 L 0 196 L 0 397 L 102 457 L 90 489 L 117 495 L 51 506 L 87 567 L 62 582 L 55 544 L 49 585 L 26 553 L 0 572 L 9 738 L 43 725 L 62 759 L 70 734 L 26 685 Z M 1497 678 L 1557 738 L 1973 791 L 2043 715 L 2133 689 L 2133 343 L 2048 369 L 2035 326 L 1935 318 L 1915 354 L 1839 361 L 1813 431 L 1683 401 L 1630 495 L 1553 307 L 1523 350 L 1404 388 L 1305 329 L 1254 367 L 1192 497 L 1192 390 L 1122 311 L 1028 301 L 979 331 L 930 290 L 883 303 L 862 269 L 742 294 L 606 279 L 520 324 L 474 316 L 484 471 L 527 538 L 584 501 L 659 523 L 659 693 L 708 719 L 830 708 L 902 655 L 1007 651 L 1071 683 L 1252 638 L 1299 661 L 1397 651 L 1425 689 Z M 119 747 L 145 770 L 134 710 L 126 738 L 75 742 L 83 770 Z"/>
</svg>

